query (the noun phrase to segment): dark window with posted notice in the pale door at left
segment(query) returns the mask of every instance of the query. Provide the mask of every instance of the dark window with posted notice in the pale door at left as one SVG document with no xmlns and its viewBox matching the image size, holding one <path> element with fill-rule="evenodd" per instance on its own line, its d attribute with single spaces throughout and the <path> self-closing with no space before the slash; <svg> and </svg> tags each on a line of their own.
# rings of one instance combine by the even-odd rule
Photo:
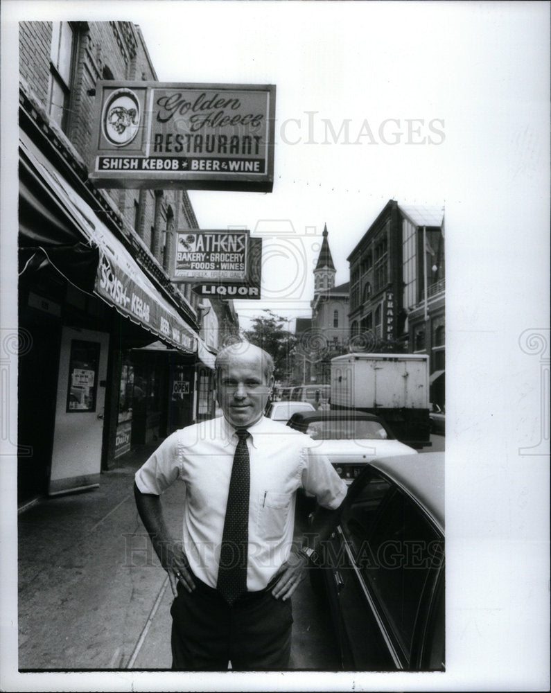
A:
<svg viewBox="0 0 551 693">
<path fill-rule="evenodd" d="M 99 358 L 99 342 L 71 340 L 67 413 L 96 411 Z"/>
</svg>

